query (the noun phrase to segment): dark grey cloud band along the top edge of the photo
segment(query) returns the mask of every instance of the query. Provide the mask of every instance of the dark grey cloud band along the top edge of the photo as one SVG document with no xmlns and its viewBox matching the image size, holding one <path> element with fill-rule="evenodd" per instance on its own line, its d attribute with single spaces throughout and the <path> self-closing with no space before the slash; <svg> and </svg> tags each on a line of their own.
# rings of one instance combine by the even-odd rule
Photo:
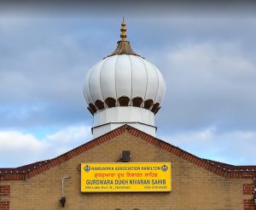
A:
<svg viewBox="0 0 256 210">
<path fill-rule="evenodd" d="M 99 14 L 113 17 L 124 14 L 136 16 L 160 16 L 168 15 L 215 15 L 215 16 L 243 16 L 254 14 L 254 1 L 9 1 L 1 3 L 2 11 L 14 14 L 54 14 L 72 16 L 85 15 L 97 17 Z M 1 10 L 0 10 L 1 11 Z M 113 13 L 114 11 L 114 13 Z"/>
</svg>

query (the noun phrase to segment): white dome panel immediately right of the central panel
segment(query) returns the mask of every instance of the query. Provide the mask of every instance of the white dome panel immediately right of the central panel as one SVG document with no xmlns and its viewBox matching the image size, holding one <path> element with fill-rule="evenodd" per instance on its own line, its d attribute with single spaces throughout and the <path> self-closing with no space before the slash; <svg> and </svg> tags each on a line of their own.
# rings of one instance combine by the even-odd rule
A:
<svg viewBox="0 0 256 210">
<path fill-rule="evenodd" d="M 132 60 L 132 94 L 131 98 L 141 97 L 144 99 L 147 88 L 147 71 L 143 59 L 130 55 Z"/>
</svg>

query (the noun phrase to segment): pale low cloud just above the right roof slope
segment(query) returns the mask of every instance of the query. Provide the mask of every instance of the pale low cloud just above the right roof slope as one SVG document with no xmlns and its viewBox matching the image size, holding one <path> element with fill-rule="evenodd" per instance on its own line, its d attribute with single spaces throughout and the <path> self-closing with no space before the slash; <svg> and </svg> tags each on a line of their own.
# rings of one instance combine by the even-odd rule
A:
<svg viewBox="0 0 256 210">
<path fill-rule="evenodd" d="M 217 128 L 210 127 L 170 134 L 163 139 L 195 156 L 234 165 L 255 165 L 255 135 L 247 131 L 219 133 Z"/>
</svg>

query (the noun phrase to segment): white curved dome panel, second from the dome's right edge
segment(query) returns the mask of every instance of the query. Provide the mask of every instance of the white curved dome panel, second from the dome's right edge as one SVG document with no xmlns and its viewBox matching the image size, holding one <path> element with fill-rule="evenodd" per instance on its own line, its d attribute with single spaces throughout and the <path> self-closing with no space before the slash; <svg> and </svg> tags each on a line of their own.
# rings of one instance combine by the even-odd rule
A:
<svg viewBox="0 0 256 210">
<path fill-rule="evenodd" d="M 154 67 L 146 60 L 143 60 L 144 65 L 147 69 L 148 75 L 148 84 L 147 84 L 147 92 L 145 96 L 145 100 L 147 99 L 155 99 L 157 91 L 158 91 L 158 75 L 154 70 Z"/>
</svg>

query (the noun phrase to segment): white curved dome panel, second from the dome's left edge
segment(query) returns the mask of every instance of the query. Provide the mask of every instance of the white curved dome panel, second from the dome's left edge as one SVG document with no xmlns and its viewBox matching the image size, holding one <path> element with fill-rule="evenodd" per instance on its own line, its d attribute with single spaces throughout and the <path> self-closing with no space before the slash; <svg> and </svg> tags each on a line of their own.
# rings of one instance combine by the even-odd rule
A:
<svg viewBox="0 0 256 210">
<path fill-rule="evenodd" d="M 90 72 L 90 78 L 89 78 L 90 93 L 94 102 L 96 102 L 97 99 L 100 99 L 103 101 L 100 77 L 101 77 L 102 65 L 104 62 L 105 60 L 102 60 L 100 63 L 98 63 L 94 67 L 94 70 Z"/>
</svg>

